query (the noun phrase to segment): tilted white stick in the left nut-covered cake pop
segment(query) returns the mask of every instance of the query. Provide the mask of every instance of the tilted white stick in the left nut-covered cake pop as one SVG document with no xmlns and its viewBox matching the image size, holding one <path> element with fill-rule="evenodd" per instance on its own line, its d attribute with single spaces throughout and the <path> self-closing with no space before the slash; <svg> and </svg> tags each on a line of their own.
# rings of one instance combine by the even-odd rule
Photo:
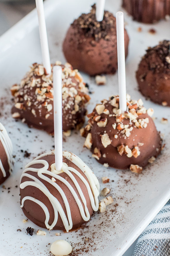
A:
<svg viewBox="0 0 170 256">
<path fill-rule="evenodd" d="M 36 2 L 37 14 L 38 14 L 42 63 L 44 68 L 46 69 L 47 74 L 50 75 L 51 63 L 50 63 L 50 54 L 49 54 L 49 48 L 48 48 L 48 38 L 47 38 L 47 30 L 46 30 L 46 21 L 44 16 L 43 0 L 35 0 L 35 2 Z"/>
</svg>

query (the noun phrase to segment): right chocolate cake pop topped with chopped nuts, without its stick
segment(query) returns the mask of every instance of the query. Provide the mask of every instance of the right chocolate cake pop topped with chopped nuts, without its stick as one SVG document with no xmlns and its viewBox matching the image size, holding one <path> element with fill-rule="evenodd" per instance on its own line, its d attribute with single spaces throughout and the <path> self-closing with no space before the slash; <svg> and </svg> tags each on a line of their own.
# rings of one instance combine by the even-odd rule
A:
<svg viewBox="0 0 170 256">
<path fill-rule="evenodd" d="M 131 100 L 127 95 L 127 110 L 121 113 L 119 96 L 103 100 L 88 115 L 81 135 L 86 137 L 84 146 L 99 163 L 141 172 L 160 154 L 161 139 L 149 116 L 153 110 L 146 110 L 141 99 Z"/>
</svg>

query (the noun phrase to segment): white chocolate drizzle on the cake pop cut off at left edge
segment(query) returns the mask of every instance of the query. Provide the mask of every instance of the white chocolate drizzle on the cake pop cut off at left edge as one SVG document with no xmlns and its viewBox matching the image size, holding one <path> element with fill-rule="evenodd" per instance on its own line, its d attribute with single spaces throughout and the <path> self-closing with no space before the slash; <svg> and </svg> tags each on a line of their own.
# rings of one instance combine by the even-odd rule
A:
<svg viewBox="0 0 170 256">
<path fill-rule="evenodd" d="M 12 157 L 13 147 L 12 147 L 12 142 L 10 140 L 10 137 L 9 137 L 5 127 L 2 125 L 2 123 L 0 123 L 0 141 L 1 141 L 2 145 L 3 145 L 5 153 L 7 155 L 7 160 L 8 160 L 8 165 L 9 165 L 9 172 L 11 174 L 11 170 L 12 170 L 12 166 L 13 166 L 13 163 L 12 163 L 12 160 L 13 160 L 13 157 Z M 1 161 L 1 154 L 0 154 L 0 169 L 1 169 L 2 173 L 3 173 L 3 177 L 6 177 L 7 174 L 5 172 L 4 166 L 3 166 L 2 161 Z"/>
</svg>

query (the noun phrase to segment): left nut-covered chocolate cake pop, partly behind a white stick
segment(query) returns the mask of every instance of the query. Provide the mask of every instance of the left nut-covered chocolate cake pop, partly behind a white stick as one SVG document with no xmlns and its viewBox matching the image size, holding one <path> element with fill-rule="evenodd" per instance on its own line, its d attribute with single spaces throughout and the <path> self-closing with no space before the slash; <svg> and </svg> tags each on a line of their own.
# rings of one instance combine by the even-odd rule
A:
<svg viewBox="0 0 170 256">
<path fill-rule="evenodd" d="M 56 62 L 56 65 L 61 65 Z M 53 65 L 51 65 L 52 69 Z M 78 70 L 69 63 L 61 65 L 63 71 L 63 130 L 80 128 L 84 123 L 86 104 L 90 97 Z M 53 134 L 53 78 L 46 75 L 42 65 L 34 63 L 29 73 L 11 88 L 15 105 L 12 116 L 20 118 L 30 127 Z"/>
</svg>

